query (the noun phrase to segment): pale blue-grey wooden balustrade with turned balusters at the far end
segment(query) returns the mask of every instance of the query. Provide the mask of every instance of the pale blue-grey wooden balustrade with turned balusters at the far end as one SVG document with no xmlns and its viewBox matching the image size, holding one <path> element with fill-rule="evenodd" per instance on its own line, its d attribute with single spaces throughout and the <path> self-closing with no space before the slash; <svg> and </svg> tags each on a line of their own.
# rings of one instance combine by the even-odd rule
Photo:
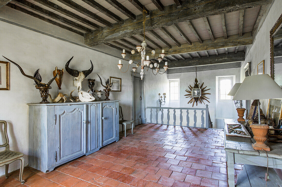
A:
<svg viewBox="0 0 282 187">
<path fill-rule="evenodd" d="M 212 128 L 208 105 L 206 108 L 147 107 L 147 111 L 150 123 Z"/>
</svg>

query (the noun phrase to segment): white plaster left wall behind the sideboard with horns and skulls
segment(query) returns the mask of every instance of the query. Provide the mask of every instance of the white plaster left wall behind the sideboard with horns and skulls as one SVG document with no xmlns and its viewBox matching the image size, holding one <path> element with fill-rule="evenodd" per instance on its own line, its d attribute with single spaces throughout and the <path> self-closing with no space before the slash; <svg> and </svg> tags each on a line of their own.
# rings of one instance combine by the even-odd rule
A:
<svg viewBox="0 0 282 187">
<path fill-rule="evenodd" d="M 2 57 L 18 63 L 26 74 L 33 75 L 38 68 L 41 69 L 43 82 L 52 78 L 52 71 L 65 69 L 65 63 L 74 56 L 70 68 L 86 70 L 91 67 L 90 60 L 94 65 L 93 72 L 87 77 L 96 79 L 95 89 L 102 90 L 98 73 L 103 82 L 110 76 L 122 78 L 122 92 L 111 92 L 110 99 L 118 99 L 123 107 L 124 117 L 132 118 L 132 88 L 131 74 L 121 73 L 116 66 L 118 58 L 106 55 L 92 49 L 74 45 L 47 35 L 43 35 L 29 29 L 21 28 L 6 22 L 0 21 L 0 61 L 7 61 Z M 123 62 L 126 64 L 127 62 Z M 0 119 L 8 122 L 8 136 L 10 149 L 25 154 L 25 164 L 28 164 L 28 106 L 30 102 L 40 102 L 39 91 L 34 87 L 34 81 L 24 77 L 19 69 L 12 63 L 10 65 L 10 90 L 0 90 Z M 57 85 L 52 83 L 49 93 L 52 96 L 57 94 Z M 88 91 L 88 81 L 83 81 L 83 90 Z M 65 71 L 63 85 L 64 94 L 74 90 L 73 78 Z M 77 92 L 74 92 L 74 95 Z M 105 98 L 103 94 L 102 99 Z M 121 128 L 121 127 L 120 127 Z M 9 172 L 19 168 L 19 162 L 10 164 Z M 4 174 L 4 168 L 0 168 L 0 175 Z"/>
</svg>

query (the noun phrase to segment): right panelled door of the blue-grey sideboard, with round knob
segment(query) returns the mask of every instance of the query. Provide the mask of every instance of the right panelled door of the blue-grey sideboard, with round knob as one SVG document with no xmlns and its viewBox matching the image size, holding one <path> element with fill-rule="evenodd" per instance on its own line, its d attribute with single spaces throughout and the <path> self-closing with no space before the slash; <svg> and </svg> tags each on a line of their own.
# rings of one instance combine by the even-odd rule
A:
<svg viewBox="0 0 282 187">
<path fill-rule="evenodd" d="M 102 146 L 116 139 L 116 103 L 102 103 L 101 138 Z"/>
</svg>

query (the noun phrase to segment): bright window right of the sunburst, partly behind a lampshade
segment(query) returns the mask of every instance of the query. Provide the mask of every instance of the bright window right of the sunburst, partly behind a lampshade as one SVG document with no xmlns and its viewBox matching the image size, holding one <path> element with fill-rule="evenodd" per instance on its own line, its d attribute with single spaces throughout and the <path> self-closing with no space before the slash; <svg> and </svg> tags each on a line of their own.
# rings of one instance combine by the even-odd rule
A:
<svg viewBox="0 0 282 187">
<path fill-rule="evenodd" d="M 233 77 L 221 77 L 219 81 L 219 101 L 230 101 L 232 97 L 227 95 L 233 86 Z"/>
</svg>

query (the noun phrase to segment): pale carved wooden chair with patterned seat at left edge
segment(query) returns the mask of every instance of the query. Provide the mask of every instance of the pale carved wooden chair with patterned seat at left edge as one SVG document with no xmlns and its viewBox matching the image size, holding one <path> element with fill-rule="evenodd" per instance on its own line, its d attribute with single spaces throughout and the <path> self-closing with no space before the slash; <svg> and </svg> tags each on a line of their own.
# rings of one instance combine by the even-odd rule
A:
<svg viewBox="0 0 282 187">
<path fill-rule="evenodd" d="M 25 159 L 23 158 L 24 154 L 21 152 L 10 150 L 9 138 L 7 134 L 7 122 L 0 121 L 0 123 L 4 124 L 4 133 L 5 133 L 5 139 L 6 139 L 6 143 L 4 143 L 3 145 L 0 145 L 0 147 L 5 147 L 5 150 L 0 152 L 0 167 L 5 165 L 5 176 L 7 179 L 9 164 L 16 160 L 21 160 L 21 168 L 19 171 L 19 181 L 21 182 L 21 184 L 24 184 L 25 183 L 25 181 L 23 180 L 23 168 L 25 166 Z"/>
</svg>

